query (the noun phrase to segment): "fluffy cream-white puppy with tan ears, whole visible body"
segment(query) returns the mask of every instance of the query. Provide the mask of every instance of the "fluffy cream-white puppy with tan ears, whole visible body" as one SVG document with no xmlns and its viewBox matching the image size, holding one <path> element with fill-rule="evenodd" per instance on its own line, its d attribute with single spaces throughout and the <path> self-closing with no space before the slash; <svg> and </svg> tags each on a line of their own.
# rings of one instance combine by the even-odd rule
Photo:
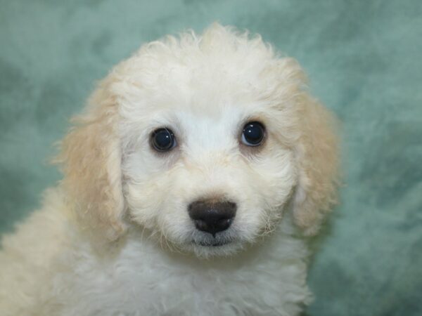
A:
<svg viewBox="0 0 422 316">
<path fill-rule="evenodd" d="M 0 254 L 1 315 L 299 315 L 333 117 L 298 62 L 214 24 L 143 45 L 61 143 Z"/>
</svg>

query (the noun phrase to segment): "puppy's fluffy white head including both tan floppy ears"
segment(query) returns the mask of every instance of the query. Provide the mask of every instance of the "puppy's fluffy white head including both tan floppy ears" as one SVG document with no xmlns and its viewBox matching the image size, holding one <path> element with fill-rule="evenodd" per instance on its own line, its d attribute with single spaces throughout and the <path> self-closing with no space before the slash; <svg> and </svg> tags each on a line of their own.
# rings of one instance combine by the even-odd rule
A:
<svg viewBox="0 0 422 316">
<path fill-rule="evenodd" d="M 312 235 L 334 199 L 337 152 L 331 115 L 304 85 L 297 62 L 227 27 L 146 44 L 75 119 L 65 190 L 109 239 L 131 225 L 231 254 L 287 209 Z"/>
</svg>

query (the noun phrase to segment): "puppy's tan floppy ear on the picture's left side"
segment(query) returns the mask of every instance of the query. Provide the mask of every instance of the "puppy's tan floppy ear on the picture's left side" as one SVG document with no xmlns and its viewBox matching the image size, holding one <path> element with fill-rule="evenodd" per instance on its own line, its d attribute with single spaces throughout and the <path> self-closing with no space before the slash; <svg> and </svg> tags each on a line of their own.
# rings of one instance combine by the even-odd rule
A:
<svg viewBox="0 0 422 316">
<path fill-rule="evenodd" d="M 56 162 L 62 164 L 62 185 L 82 225 L 114 240 L 125 228 L 117 103 L 109 86 L 110 79 L 103 81 L 87 111 L 72 119 Z"/>
</svg>

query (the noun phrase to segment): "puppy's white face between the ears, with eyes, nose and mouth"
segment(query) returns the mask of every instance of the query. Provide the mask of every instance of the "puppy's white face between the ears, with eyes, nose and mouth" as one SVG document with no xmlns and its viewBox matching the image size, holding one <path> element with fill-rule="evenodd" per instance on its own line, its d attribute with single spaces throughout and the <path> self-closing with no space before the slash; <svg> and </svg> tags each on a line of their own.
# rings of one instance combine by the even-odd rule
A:
<svg viewBox="0 0 422 316">
<path fill-rule="evenodd" d="M 174 61 L 120 99 L 130 218 L 162 244 L 230 254 L 274 229 L 297 183 L 288 105 L 262 96 L 262 69 L 239 72 Z"/>
</svg>

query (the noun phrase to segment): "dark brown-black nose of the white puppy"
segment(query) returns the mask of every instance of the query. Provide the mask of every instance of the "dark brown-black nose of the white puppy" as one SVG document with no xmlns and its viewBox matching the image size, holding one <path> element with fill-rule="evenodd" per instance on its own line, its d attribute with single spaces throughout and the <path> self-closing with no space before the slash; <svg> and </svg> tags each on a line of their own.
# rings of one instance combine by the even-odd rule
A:
<svg viewBox="0 0 422 316">
<path fill-rule="evenodd" d="M 233 202 L 202 200 L 191 203 L 188 211 L 198 230 L 210 232 L 215 237 L 217 232 L 230 227 L 236 208 L 236 203 Z"/>
</svg>

